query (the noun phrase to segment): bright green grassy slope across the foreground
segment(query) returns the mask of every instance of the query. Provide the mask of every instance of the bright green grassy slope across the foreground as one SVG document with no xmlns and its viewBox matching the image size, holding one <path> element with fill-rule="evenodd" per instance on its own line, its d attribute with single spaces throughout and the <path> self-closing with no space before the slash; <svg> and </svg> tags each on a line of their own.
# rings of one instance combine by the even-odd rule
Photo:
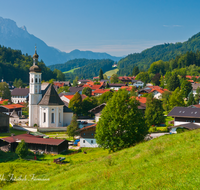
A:
<svg viewBox="0 0 200 190">
<path fill-rule="evenodd" d="M 3 189 L 198 189 L 200 186 L 200 130 L 166 135 L 135 147 L 108 154 L 86 149 L 87 154 L 66 156 L 56 165 L 52 156 L 41 161 L 14 160 L 0 164 L 0 171 L 14 167 L 15 174 L 49 181 L 21 181 Z M 59 155 L 58 155 L 59 156 Z"/>
</svg>

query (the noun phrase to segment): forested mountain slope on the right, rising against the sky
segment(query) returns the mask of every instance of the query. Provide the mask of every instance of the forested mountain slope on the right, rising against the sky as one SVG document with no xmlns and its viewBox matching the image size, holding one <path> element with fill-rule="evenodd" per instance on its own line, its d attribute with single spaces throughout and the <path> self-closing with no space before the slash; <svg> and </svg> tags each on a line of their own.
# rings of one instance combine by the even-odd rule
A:
<svg viewBox="0 0 200 190">
<path fill-rule="evenodd" d="M 200 33 L 191 37 L 184 43 L 163 44 L 146 49 L 141 53 L 130 54 L 118 62 L 118 75 L 130 75 L 134 66 L 147 69 L 151 63 L 163 60 L 169 61 L 177 55 L 181 55 L 188 51 L 196 52 L 200 50 Z"/>
</svg>

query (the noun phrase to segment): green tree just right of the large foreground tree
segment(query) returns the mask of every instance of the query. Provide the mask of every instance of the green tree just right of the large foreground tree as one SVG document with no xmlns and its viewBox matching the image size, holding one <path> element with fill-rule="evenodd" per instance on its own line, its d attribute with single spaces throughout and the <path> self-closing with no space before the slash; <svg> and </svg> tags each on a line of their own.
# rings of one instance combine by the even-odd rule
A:
<svg viewBox="0 0 200 190">
<path fill-rule="evenodd" d="M 160 125 L 165 122 L 165 116 L 163 114 L 162 102 L 153 96 L 147 97 L 145 119 L 147 125 Z"/>
</svg>

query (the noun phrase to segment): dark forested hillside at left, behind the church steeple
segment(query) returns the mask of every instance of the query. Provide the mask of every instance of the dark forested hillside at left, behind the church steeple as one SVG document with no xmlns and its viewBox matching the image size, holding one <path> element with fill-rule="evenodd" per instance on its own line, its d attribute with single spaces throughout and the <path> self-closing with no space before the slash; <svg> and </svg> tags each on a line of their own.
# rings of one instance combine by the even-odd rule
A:
<svg viewBox="0 0 200 190">
<path fill-rule="evenodd" d="M 20 50 L 2 47 L 0 45 L 0 79 L 12 82 L 15 78 L 21 78 L 24 83 L 29 82 L 29 68 L 33 65 L 31 56 L 23 55 Z M 64 75 L 59 70 L 51 71 L 43 61 L 38 62 L 42 69 L 42 80 L 52 78 L 64 80 Z"/>
</svg>

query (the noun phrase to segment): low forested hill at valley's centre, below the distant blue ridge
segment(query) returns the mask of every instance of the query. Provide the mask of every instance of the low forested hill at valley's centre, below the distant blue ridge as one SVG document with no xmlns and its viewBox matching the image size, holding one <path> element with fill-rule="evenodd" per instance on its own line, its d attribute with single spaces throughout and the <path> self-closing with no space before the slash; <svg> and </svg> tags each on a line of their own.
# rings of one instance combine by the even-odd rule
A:
<svg viewBox="0 0 200 190">
<path fill-rule="evenodd" d="M 64 64 L 51 65 L 49 68 L 51 70 L 59 69 L 62 72 L 78 68 L 74 70 L 73 73 L 66 73 L 66 80 L 73 80 L 76 76 L 78 76 L 79 79 L 91 79 L 99 75 L 100 69 L 102 69 L 104 73 L 111 70 L 113 64 L 114 61 L 110 59 L 74 59 Z"/>
</svg>

